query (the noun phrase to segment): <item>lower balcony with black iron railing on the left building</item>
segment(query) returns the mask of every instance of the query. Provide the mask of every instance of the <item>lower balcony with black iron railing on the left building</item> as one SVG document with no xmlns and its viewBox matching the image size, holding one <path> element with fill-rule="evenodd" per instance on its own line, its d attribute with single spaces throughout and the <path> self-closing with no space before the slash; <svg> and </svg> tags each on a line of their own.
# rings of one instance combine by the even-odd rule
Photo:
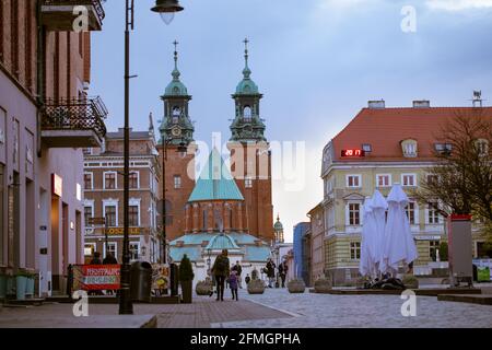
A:
<svg viewBox="0 0 492 350">
<path fill-rule="evenodd" d="M 101 147 L 107 109 L 99 97 L 45 102 L 42 141 L 48 148 Z"/>
</svg>

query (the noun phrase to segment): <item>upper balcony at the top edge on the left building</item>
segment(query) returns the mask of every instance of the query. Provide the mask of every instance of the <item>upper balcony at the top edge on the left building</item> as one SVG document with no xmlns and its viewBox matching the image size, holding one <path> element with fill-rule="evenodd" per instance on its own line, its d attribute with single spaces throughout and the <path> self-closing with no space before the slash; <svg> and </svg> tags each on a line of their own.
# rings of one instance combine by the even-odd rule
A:
<svg viewBox="0 0 492 350">
<path fill-rule="evenodd" d="M 42 0 L 43 25 L 51 32 L 101 31 L 105 0 Z M 86 27 L 80 16 L 87 15 Z"/>
</svg>

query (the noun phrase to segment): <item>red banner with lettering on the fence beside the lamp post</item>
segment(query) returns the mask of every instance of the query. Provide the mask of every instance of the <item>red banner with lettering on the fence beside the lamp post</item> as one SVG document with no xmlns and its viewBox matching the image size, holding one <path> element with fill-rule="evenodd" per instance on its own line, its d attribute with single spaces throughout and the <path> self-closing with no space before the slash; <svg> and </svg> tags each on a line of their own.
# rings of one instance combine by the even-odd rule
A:
<svg viewBox="0 0 492 350">
<path fill-rule="evenodd" d="M 102 291 L 120 289 L 119 265 L 73 266 L 73 290 Z"/>
</svg>

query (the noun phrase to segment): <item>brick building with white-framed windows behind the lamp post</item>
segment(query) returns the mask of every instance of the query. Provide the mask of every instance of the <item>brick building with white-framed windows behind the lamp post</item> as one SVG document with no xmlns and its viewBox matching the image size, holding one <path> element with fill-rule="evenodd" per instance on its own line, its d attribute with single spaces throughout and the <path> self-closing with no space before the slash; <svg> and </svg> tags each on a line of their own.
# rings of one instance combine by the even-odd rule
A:
<svg viewBox="0 0 492 350">
<path fill-rule="evenodd" d="M 161 258 L 157 198 L 161 166 L 152 118 L 148 131 L 130 130 L 129 226 L 130 260 L 156 262 Z M 84 257 L 112 253 L 122 261 L 124 130 L 108 132 L 103 148 L 84 155 Z M 96 220 L 93 218 L 101 218 Z M 107 237 L 107 244 L 106 244 Z"/>
</svg>

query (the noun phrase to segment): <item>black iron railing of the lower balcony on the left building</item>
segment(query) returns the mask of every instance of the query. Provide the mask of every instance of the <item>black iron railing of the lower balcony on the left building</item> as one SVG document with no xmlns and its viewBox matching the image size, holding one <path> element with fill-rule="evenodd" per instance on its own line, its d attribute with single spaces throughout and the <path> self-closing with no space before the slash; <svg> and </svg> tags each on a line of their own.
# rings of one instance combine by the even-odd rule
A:
<svg viewBox="0 0 492 350">
<path fill-rule="evenodd" d="M 45 101 L 42 130 L 93 130 L 106 136 L 107 109 L 101 97 L 49 98 Z"/>
</svg>

